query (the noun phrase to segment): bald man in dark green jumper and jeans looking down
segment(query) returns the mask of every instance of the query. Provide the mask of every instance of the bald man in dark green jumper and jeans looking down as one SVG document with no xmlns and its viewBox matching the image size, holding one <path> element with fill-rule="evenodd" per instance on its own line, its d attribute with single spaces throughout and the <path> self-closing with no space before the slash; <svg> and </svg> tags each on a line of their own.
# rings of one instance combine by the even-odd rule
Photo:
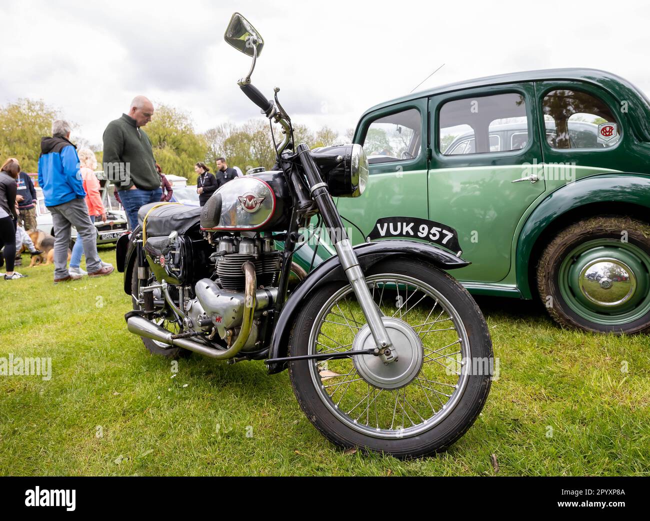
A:
<svg viewBox="0 0 650 521">
<path fill-rule="evenodd" d="M 151 116 L 153 103 L 136 96 L 128 114 L 110 121 L 104 131 L 104 173 L 120 192 L 132 230 L 138 225 L 140 207 L 158 202 L 162 196 L 151 141 L 142 130 Z"/>
</svg>

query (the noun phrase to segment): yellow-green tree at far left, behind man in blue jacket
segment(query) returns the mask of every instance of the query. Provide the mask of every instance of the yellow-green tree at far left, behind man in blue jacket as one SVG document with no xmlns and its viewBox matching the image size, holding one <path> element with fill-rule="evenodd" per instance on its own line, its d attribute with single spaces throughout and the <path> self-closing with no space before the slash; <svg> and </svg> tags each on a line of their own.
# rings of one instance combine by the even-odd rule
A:
<svg viewBox="0 0 650 521">
<path fill-rule="evenodd" d="M 18 99 L 0 107 L 0 161 L 15 157 L 25 172 L 38 170 L 40 141 L 51 135 L 59 111 L 42 100 Z"/>
</svg>

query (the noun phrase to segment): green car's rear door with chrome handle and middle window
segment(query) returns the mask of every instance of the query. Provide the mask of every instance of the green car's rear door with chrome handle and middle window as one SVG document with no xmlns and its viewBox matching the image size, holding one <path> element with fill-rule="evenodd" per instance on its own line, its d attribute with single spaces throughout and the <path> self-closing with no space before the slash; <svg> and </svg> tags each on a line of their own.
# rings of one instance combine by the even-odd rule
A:
<svg viewBox="0 0 650 521">
<path fill-rule="evenodd" d="M 472 262 L 454 270 L 461 281 L 498 282 L 508 275 L 517 224 L 543 196 L 534 100 L 532 83 L 429 98 L 428 213 L 458 232 L 462 256 Z M 508 139 L 512 129 L 528 138 L 520 136 L 513 145 Z M 461 135 L 473 137 L 473 146 L 451 153 L 450 144 Z"/>
</svg>

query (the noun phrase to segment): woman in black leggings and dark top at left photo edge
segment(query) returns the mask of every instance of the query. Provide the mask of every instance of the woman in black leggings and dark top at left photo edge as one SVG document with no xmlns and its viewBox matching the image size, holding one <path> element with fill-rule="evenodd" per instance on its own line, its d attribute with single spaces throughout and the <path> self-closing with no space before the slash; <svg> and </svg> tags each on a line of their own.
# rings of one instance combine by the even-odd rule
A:
<svg viewBox="0 0 650 521">
<path fill-rule="evenodd" d="M 0 167 L 0 242 L 5 245 L 5 281 L 13 281 L 27 275 L 14 272 L 16 259 L 16 189 L 18 188 L 18 160 L 10 157 Z"/>
</svg>

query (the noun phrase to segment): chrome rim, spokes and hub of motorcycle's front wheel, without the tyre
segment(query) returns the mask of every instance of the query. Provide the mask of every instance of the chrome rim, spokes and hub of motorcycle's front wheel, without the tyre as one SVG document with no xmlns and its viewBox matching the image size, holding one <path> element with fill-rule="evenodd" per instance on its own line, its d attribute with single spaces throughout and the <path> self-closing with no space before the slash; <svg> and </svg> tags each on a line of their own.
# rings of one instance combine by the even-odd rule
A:
<svg viewBox="0 0 650 521">
<path fill-rule="evenodd" d="M 374 355 L 304 363 L 318 397 L 343 424 L 376 438 L 413 437 L 458 405 L 473 366 L 467 330 L 448 299 L 422 281 L 392 273 L 366 280 L 389 337 L 393 342 L 403 337 L 395 342 L 399 357 L 393 362 L 402 367 L 383 372 L 383 362 Z M 389 294 L 395 301 L 387 299 Z M 363 312 L 346 285 L 318 312 L 307 352 L 365 349 L 369 337 L 371 342 Z"/>
</svg>

